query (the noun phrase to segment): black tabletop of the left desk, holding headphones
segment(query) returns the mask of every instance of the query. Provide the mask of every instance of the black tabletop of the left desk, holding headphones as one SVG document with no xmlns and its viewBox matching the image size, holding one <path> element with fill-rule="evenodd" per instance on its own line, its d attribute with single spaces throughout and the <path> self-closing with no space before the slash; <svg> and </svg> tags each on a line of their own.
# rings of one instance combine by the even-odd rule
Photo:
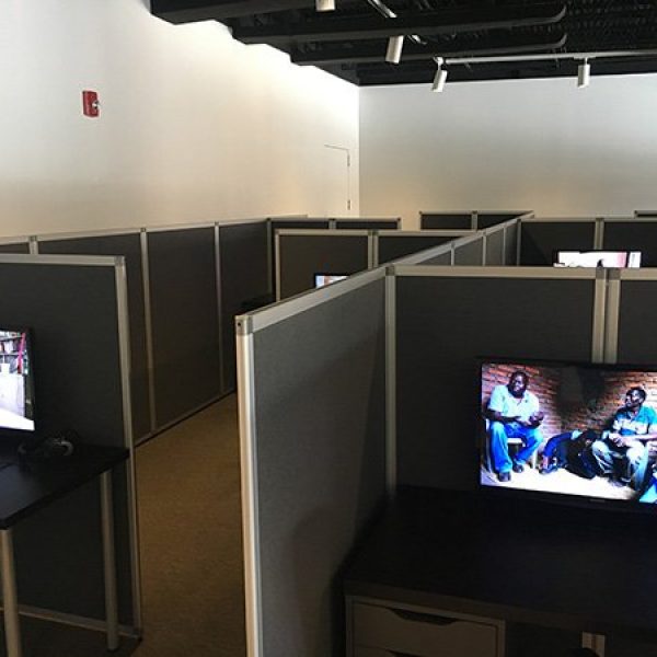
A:
<svg viewBox="0 0 657 657">
<path fill-rule="evenodd" d="M 0 459 L 13 460 L 0 469 L 0 529 L 66 495 L 128 458 L 118 447 L 77 445 L 70 457 L 43 463 L 19 463 L 15 446 L 0 447 Z"/>
</svg>

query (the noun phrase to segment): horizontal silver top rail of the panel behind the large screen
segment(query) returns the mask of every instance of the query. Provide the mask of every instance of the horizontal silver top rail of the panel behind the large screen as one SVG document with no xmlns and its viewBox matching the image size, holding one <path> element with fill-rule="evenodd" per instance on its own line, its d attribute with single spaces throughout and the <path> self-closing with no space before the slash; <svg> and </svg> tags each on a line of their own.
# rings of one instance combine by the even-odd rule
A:
<svg viewBox="0 0 657 657">
<path fill-rule="evenodd" d="M 612 269 L 586 267 L 453 267 L 450 265 L 393 265 L 394 275 L 400 277 L 482 277 L 482 278 L 564 278 L 595 280 Z"/>
</svg>

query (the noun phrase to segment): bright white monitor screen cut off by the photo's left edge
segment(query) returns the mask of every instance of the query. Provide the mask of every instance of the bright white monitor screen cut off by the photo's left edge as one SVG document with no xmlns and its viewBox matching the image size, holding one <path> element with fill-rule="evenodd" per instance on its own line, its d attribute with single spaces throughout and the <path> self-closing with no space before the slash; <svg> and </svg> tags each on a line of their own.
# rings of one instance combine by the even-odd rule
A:
<svg viewBox="0 0 657 657">
<path fill-rule="evenodd" d="M 0 429 L 34 431 L 32 368 L 30 332 L 0 327 Z"/>
</svg>

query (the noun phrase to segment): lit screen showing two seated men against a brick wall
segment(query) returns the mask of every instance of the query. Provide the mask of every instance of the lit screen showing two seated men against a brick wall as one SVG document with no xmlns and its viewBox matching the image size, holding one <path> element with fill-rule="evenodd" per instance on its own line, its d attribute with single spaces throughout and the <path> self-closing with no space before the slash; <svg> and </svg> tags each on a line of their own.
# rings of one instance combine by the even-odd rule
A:
<svg viewBox="0 0 657 657">
<path fill-rule="evenodd" d="M 657 368 L 485 361 L 483 486 L 657 503 Z"/>
</svg>

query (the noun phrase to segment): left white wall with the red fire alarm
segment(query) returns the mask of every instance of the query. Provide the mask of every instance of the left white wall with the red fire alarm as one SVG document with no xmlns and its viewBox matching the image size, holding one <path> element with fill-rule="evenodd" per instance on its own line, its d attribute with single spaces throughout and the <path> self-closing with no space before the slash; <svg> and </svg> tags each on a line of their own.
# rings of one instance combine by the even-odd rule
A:
<svg viewBox="0 0 657 657">
<path fill-rule="evenodd" d="M 323 215 L 326 143 L 353 155 L 358 214 L 356 87 L 148 7 L 0 2 L 0 235 Z"/>
</svg>

